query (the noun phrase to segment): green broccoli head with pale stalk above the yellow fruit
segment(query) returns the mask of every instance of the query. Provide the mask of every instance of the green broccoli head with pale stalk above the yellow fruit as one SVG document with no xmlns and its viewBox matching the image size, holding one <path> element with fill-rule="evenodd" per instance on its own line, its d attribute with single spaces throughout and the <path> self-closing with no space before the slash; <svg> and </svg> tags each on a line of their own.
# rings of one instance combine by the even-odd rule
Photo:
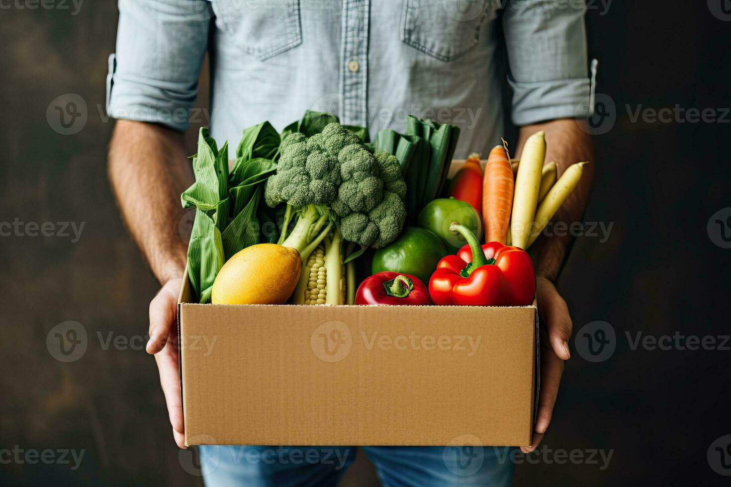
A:
<svg viewBox="0 0 731 487">
<path fill-rule="evenodd" d="M 280 153 L 264 197 L 270 207 L 286 202 L 287 214 L 298 215 L 286 239 L 284 229 L 282 245 L 309 255 L 307 250 L 329 230 L 325 221 L 333 223 L 338 217 L 344 239 L 360 245 L 380 248 L 401 233 L 406 183 L 395 156 L 371 154 L 339 123 L 329 123 L 311 137 L 289 134 Z"/>
</svg>

